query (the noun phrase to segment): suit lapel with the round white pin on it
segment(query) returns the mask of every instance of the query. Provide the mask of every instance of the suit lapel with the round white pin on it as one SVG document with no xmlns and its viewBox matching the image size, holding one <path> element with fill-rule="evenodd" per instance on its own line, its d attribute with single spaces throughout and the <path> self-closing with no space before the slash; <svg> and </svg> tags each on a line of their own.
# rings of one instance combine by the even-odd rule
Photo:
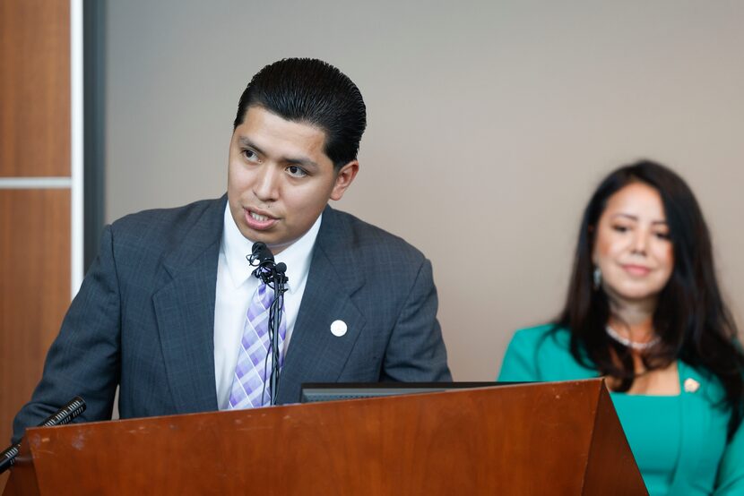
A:
<svg viewBox="0 0 744 496">
<path fill-rule="evenodd" d="M 326 208 L 313 250 L 298 319 L 287 350 L 278 394 L 280 403 L 298 401 L 303 382 L 334 382 L 343 371 L 365 318 L 352 302 L 364 281 L 350 249 L 349 227 Z M 334 336 L 333 321 L 343 321 L 346 333 Z"/>
</svg>

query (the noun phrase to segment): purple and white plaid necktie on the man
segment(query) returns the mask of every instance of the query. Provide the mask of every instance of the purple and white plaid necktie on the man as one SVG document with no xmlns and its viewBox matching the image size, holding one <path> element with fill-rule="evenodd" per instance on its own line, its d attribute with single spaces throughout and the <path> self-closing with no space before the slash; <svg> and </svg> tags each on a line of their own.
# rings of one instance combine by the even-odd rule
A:
<svg viewBox="0 0 744 496">
<path fill-rule="evenodd" d="M 271 340 L 269 338 L 269 307 L 273 302 L 273 289 L 261 283 L 255 290 L 248 307 L 243 338 L 238 351 L 238 364 L 232 377 L 229 410 L 255 408 L 271 403 L 266 375 L 272 371 Z M 284 309 L 282 308 L 283 312 Z M 284 336 L 287 326 L 284 319 L 279 325 L 279 366 L 284 362 Z M 264 386 L 265 384 L 265 386 Z M 262 398 L 263 396 L 263 398 Z"/>
</svg>

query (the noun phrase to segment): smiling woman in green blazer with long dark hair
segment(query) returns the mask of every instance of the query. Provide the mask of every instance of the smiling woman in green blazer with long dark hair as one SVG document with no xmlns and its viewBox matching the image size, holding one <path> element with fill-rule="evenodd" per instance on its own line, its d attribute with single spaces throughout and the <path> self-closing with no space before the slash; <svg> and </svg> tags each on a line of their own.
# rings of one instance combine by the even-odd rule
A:
<svg viewBox="0 0 744 496">
<path fill-rule="evenodd" d="M 638 162 L 594 192 L 563 312 L 516 332 L 498 379 L 605 376 L 652 495 L 744 494 L 736 339 L 694 195 Z"/>
</svg>

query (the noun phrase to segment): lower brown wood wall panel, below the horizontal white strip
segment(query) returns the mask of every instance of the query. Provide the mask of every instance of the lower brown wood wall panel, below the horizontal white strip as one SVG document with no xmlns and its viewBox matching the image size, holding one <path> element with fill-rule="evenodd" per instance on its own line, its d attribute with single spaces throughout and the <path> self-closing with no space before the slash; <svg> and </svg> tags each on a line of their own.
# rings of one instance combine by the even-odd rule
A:
<svg viewBox="0 0 744 496">
<path fill-rule="evenodd" d="M 70 304 L 70 192 L 0 190 L 0 444 Z"/>
</svg>

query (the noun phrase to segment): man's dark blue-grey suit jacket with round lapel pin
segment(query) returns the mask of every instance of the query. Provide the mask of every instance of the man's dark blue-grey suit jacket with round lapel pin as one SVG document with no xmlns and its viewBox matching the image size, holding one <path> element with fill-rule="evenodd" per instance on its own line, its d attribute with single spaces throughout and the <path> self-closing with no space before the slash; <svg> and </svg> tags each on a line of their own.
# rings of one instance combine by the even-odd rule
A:
<svg viewBox="0 0 744 496">
<path fill-rule="evenodd" d="M 214 299 L 226 197 L 106 227 L 13 440 L 75 395 L 83 421 L 216 410 Z M 331 322 L 347 333 L 336 338 Z M 430 262 L 327 207 L 285 357 L 280 403 L 302 382 L 450 381 Z"/>
</svg>

